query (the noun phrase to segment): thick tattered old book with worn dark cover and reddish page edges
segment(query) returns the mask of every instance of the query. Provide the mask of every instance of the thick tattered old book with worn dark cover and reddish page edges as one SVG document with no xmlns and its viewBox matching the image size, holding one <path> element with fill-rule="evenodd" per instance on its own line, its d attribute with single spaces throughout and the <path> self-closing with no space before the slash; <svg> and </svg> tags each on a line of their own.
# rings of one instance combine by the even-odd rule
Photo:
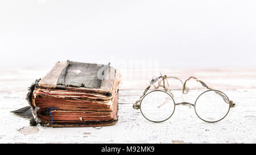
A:
<svg viewBox="0 0 256 155">
<path fill-rule="evenodd" d="M 109 65 L 57 62 L 27 94 L 35 121 L 47 127 L 98 127 L 118 120 L 120 76 Z"/>
</svg>

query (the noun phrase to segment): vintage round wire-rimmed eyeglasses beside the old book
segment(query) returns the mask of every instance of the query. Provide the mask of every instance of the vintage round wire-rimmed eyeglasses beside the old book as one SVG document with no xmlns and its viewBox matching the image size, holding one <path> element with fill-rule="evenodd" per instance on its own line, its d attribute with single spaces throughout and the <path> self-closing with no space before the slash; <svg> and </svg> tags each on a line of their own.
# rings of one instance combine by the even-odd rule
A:
<svg viewBox="0 0 256 155">
<path fill-rule="evenodd" d="M 181 82 L 183 85 L 183 94 L 188 93 L 186 83 L 189 81 L 189 79 L 195 79 L 208 90 L 204 91 L 204 93 L 201 93 L 199 97 L 197 97 L 194 104 L 188 102 L 175 103 L 174 95 L 168 89 L 168 78 L 174 78 Z M 155 86 L 154 83 L 157 81 L 158 86 Z M 163 87 L 164 91 L 153 90 L 147 93 L 152 85 L 155 87 L 155 89 Z M 229 100 L 229 98 L 224 93 L 219 90 L 211 89 L 203 81 L 195 77 L 189 77 L 183 83 L 183 81 L 181 81 L 179 78 L 161 75 L 160 77 L 156 77 L 150 81 L 150 85 L 146 87 L 146 90 L 144 90 L 144 93 L 139 98 L 139 100 L 133 104 L 133 108 L 141 110 L 142 115 L 147 120 L 158 123 L 170 119 L 174 114 L 175 107 L 178 105 L 193 106 L 196 115 L 201 120 L 209 123 L 218 122 L 224 119 L 228 115 L 230 108 L 236 106 L 236 104 L 233 103 L 232 100 Z"/>
</svg>

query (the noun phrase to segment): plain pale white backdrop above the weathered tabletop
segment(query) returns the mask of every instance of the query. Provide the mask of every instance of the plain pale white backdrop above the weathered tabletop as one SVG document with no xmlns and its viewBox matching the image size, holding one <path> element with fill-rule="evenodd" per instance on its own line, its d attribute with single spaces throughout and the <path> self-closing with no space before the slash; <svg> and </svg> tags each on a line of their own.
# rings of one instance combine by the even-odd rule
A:
<svg viewBox="0 0 256 155">
<path fill-rule="evenodd" d="M 59 60 L 256 66 L 256 1 L 0 2 L 0 68 Z"/>
</svg>

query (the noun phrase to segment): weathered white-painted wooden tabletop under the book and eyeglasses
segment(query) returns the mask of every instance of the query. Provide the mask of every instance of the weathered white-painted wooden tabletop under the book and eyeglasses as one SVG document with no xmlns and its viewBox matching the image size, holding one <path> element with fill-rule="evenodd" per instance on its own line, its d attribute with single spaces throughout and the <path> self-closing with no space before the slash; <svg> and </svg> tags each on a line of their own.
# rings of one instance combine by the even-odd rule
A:
<svg viewBox="0 0 256 155">
<path fill-rule="evenodd" d="M 151 73 L 130 70 L 123 73 L 119 88 L 117 124 L 101 129 L 30 127 L 28 119 L 10 111 L 28 105 L 25 100 L 27 87 L 49 70 L 0 69 L 0 143 L 256 143 L 255 68 L 160 70 L 183 80 L 189 76 L 200 78 L 234 100 L 237 106 L 218 123 L 203 122 L 187 106 L 177 107 L 172 118 L 166 122 L 148 122 L 132 105 L 143 93 Z M 201 88 L 183 96 L 186 101 L 193 103 L 204 89 L 196 82 L 189 85 Z M 179 83 L 174 82 L 172 88 L 175 89 L 176 100 L 180 100 Z"/>
</svg>

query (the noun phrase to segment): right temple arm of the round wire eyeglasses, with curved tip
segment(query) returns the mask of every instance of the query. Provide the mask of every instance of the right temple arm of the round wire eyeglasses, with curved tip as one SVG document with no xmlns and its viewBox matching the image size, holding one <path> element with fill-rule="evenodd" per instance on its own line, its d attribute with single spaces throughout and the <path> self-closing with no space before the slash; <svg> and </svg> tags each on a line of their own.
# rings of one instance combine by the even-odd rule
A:
<svg viewBox="0 0 256 155">
<path fill-rule="evenodd" d="M 204 86 L 204 87 L 206 87 L 207 89 L 209 89 L 209 90 L 212 89 L 212 88 L 210 88 L 209 86 L 207 86 L 207 84 L 204 83 L 203 81 L 201 81 L 200 79 L 197 79 L 196 77 L 189 77 L 189 78 L 186 79 L 185 82 L 184 82 L 183 89 L 182 89 L 182 93 L 183 93 L 183 94 L 187 94 L 187 93 L 188 93 L 188 88 L 186 87 L 186 83 L 187 83 L 187 81 L 189 81 L 189 79 L 192 79 L 192 78 L 193 78 L 193 79 L 196 79 L 197 82 L 200 82 L 201 85 Z M 236 106 L 236 104 L 233 103 L 233 100 L 230 100 L 230 102 L 229 102 L 229 100 L 228 100 L 224 95 L 222 95 L 220 92 L 218 92 L 218 91 L 214 91 L 214 92 L 217 93 L 218 95 L 220 95 L 226 103 L 230 104 L 231 107 L 235 107 L 235 106 Z"/>
</svg>

